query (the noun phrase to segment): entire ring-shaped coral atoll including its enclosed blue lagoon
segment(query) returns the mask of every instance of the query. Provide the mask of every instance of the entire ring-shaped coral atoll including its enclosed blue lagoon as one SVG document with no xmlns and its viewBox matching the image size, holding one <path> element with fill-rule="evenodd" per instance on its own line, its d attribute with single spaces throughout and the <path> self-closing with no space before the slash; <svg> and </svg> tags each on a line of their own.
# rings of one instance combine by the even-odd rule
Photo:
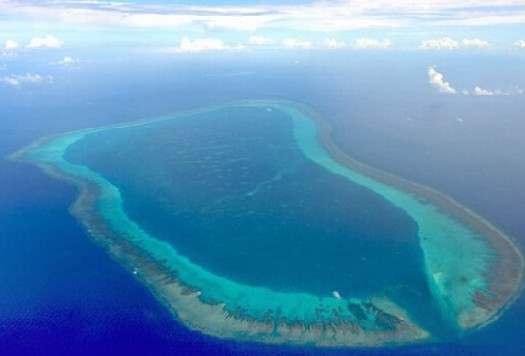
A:
<svg viewBox="0 0 525 356">
<path fill-rule="evenodd" d="M 42 139 L 89 236 L 187 327 L 325 347 L 439 340 L 516 299 L 513 240 L 353 160 L 296 103 L 244 101 Z"/>
</svg>

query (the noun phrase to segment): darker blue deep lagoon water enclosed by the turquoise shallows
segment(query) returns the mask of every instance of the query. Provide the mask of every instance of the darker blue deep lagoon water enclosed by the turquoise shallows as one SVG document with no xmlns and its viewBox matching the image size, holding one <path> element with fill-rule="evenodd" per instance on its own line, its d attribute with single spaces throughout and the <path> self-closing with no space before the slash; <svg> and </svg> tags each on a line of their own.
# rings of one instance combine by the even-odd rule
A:
<svg viewBox="0 0 525 356">
<path fill-rule="evenodd" d="M 307 159 L 281 112 L 230 107 L 108 130 L 65 157 L 117 186 L 153 236 L 229 279 L 320 296 L 425 284 L 414 221 Z"/>
</svg>

